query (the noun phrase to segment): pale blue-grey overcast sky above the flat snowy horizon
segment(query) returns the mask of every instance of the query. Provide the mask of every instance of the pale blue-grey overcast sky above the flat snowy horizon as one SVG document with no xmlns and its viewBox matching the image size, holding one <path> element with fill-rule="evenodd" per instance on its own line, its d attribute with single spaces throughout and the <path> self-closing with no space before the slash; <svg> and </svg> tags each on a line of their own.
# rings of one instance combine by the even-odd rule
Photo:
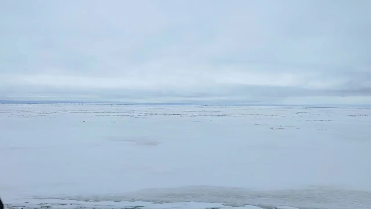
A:
<svg viewBox="0 0 371 209">
<path fill-rule="evenodd" d="M 0 100 L 371 104 L 370 0 L 1 0 Z"/>
</svg>

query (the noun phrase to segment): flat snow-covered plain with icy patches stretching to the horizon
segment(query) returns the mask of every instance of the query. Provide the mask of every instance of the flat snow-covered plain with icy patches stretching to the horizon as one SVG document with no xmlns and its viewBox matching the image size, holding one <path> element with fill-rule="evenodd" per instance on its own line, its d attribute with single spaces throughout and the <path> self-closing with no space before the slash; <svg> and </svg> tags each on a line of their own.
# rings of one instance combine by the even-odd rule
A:
<svg viewBox="0 0 371 209">
<path fill-rule="evenodd" d="M 8 208 L 369 209 L 371 109 L 0 105 Z"/>
</svg>

